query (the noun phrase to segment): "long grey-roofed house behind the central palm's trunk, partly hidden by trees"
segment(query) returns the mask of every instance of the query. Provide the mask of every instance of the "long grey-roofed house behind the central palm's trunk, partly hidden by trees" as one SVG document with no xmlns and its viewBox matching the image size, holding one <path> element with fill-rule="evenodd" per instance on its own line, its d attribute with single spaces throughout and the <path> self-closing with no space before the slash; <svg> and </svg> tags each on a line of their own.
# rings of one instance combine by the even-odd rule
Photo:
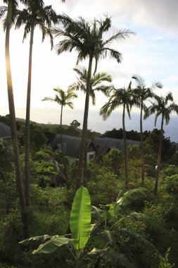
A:
<svg viewBox="0 0 178 268">
<path fill-rule="evenodd" d="M 64 152 L 69 157 L 79 158 L 80 154 L 80 143 L 81 138 L 73 137 L 69 135 L 63 135 L 63 147 Z M 127 147 L 129 145 L 140 145 L 141 142 L 136 140 L 127 140 Z M 53 150 L 61 150 L 61 135 L 56 135 L 56 137 L 51 142 L 51 147 Z M 117 148 L 119 150 L 124 150 L 124 140 L 113 139 L 113 138 L 93 138 L 92 140 L 87 140 L 87 162 L 94 158 L 96 154 L 101 154 L 102 152 L 109 152 L 111 149 Z"/>
</svg>

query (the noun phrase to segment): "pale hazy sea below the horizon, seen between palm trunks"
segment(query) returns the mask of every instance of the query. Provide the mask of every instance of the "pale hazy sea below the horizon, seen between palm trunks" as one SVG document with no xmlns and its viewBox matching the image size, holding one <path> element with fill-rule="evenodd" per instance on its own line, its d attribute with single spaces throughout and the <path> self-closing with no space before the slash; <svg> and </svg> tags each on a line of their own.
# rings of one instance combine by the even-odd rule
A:
<svg viewBox="0 0 178 268">
<path fill-rule="evenodd" d="M 0 108 L 0 114 L 8 114 L 8 108 Z M 17 108 L 15 109 L 16 117 L 25 118 L 25 109 Z M 83 121 L 83 110 L 82 109 L 64 109 L 63 111 L 63 124 L 69 125 L 73 120 L 77 120 L 81 123 Z M 31 109 L 31 120 L 37 123 L 59 123 L 60 122 L 60 109 L 55 108 L 32 108 Z M 131 120 L 128 116 L 125 118 L 126 130 L 136 130 L 139 131 L 139 113 L 132 113 Z M 122 112 L 114 111 L 110 117 L 103 121 L 98 111 L 89 111 L 89 123 L 88 128 L 92 131 L 104 133 L 106 130 L 112 130 L 113 128 L 122 128 Z M 144 120 L 143 129 L 153 130 L 153 128 L 160 129 L 160 118 L 158 118 L 156 126 L 154 126 L 154 116 Z M 164 126 L 165 137 L 170 137 L 173 142 L 178 142 L 178 116 L 172 115 L 170 117 L 170 123 Z"/>
</svg>

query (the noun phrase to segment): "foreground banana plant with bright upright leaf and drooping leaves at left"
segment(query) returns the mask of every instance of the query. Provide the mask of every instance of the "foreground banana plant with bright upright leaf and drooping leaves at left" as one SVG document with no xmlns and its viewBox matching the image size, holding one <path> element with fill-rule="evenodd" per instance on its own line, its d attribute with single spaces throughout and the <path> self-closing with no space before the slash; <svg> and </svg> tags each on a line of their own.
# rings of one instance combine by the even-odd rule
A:
<svg viewBox="0 0 178 268">
<path fill-rule="evenodd" d="M 35 236 L 21 241 L 20 244 L 28 245 L 33 241 L 42 243 L 32 254 L 51 253 L 65 245 L 75 261 L 75 267 L 79 268 L 82 260 L 87 256 L 84 255 L 84 248 L 91 230 L 91 200 L 87 188 L 81 187 L 75 193 L 70 212 L 70 230 L 71 238 L 67 235 Z"/>
</svg>

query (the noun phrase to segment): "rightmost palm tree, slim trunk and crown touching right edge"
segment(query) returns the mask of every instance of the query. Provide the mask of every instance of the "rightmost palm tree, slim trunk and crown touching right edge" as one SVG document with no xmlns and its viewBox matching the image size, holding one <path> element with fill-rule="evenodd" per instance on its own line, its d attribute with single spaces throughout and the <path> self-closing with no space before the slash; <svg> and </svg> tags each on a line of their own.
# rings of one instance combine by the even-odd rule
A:
<svg viewBox="0 0 178 268">
<path fill-rule="evenodd" d="M 178 114 L 178 105 L 175 104 L 173 101 L 172 93 L 168 92 L 165 97 L 158 97 L 154 96 L 155 102 L 151 102 L 151 106 L 148 107 L 145 111 L 144 119 L 148 118 L 152 114 L 155 114 L 155 126 L 158 119 L 158 116 L 161 116 L 161 123 L 160 123 L 160 144 L 158 150 L 158 162 L 157 162 L 157 169 L 155 172 L 155 189 L 154 195 L 158 193 L 158 179 L 159 179 L 159 172 L 160 172 L 160 158 L 161 158 L 161 149 L 162 149 L 162 140 L 163 140 L 163 124 L 167 125 L 170 122 L 170 114 L 176 112 Z M 171 103 L 170 103 L 171 102 Z"/>
</svg>

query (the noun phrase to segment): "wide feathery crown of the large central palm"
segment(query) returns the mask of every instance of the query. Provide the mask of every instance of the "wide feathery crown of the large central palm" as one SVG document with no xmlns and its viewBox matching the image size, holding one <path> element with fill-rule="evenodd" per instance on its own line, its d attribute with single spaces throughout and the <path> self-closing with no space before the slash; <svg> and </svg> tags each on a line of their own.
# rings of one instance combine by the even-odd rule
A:
<svg viewBox="0 0 178 268">
<path fill-rule="evenodd" d="M 67 15 L 58 17 L 64 25 L 64 30 L 53 28 L 53 33 L 56 37 L 64 37 L 56 45 L 58 54 L 75 49 L 78 52 L 77 63 L 91 56 L 96 59 L 97 66 L 98 59 L 106 58 L 108 55 L 120 63 L 122 54 L 115 49 L 110 49 L 110 43 L 113 40 L 125 39 L 132 33 L 131 31 L 120 29 L 109 39 L 103 40 L 103 33 L 107 32 L 111 27 L 110 18 L 106 17 L 105 20 L 94 19 L 93 23 L 89 23 L 82 17 L 78 20 L 72 20 Z"/>
</svg>

